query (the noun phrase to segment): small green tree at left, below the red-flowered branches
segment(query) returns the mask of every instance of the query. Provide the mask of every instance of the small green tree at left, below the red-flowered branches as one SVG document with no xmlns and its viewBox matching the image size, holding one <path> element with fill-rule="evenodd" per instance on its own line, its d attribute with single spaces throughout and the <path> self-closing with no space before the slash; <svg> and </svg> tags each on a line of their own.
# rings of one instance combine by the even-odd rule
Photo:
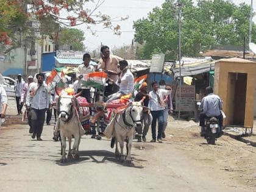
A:
<svg viewBox="0 0 256 192">
<path fill-rule="evenodd" d="M 84 32 L 80 29 L 62 28 L 60 30 L 59 45 L 71 45 L 74 51 L 84 51 Z"/>
</svg>

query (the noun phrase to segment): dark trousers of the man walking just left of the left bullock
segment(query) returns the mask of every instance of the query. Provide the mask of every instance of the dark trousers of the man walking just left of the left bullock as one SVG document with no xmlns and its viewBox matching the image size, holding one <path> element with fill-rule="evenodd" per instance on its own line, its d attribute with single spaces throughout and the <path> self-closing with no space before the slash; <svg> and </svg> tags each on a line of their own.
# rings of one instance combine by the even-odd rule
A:
<svg viewBox="0 0 256 192">
<path fill-rule="evenodd" d="M 37 137 L 41 137 L 41 133 L 43 132 L 45 112 L 46 108 L 41 110 L 32 108 L 30 111 L 33 133 L 37 135 Z"/>
</svg>

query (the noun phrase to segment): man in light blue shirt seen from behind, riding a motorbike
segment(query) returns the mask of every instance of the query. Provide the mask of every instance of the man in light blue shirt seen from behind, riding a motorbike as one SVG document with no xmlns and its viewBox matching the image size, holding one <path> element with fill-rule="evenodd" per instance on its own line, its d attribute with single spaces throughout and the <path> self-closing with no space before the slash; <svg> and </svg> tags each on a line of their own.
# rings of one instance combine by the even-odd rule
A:
<svg viewBox="0 0 256 192">
<path fill-rule="evenodd" d="M 222 128 L 223 116 L 221 114 L 222 101 L 218 95 L 213 94 L 213 88 L 205 89 L 206 96 L 202 99 L 199 109 L 203 110 L 200 113 L 201 137 L 205 136 L 205 118 L 216 117 L 219 119 L 219 126 Z M 222 132 L 222 129 L 221 129 Z"/>
</svg>

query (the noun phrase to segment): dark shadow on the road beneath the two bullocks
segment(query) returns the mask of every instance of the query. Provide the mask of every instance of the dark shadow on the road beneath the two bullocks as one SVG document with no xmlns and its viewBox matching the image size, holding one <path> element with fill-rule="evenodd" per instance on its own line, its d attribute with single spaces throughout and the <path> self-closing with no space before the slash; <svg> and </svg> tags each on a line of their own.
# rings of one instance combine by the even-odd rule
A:
<svg viewBox="0 0 256 192">
<path fill-rule="evenodd" d="M 86 160 L 92 160 L 94 163 L 116 163 L 118 165 L 128 166 L 132 168 L 142 169 L 144 166 L 136 166 L 134 163 L 129 163 L 126 161 L 119 160 L 118 157 L 115 157 L 113 152 L 106 151 L 106 150 L 91 150 L 91 151 L 79 151 L 80 158 L 72 158 L 68 159 L 66 163 L 61 163 L 60 160 L 55 161 L 57 165 L 60 166 L 68 166 L 77 164 L 80 162 L 84 162 Z M 96 157 L 103 157 L 102 160 L 97 160 Z M 137 160 L 143 162 L 144 160 Z"/>
</svg>

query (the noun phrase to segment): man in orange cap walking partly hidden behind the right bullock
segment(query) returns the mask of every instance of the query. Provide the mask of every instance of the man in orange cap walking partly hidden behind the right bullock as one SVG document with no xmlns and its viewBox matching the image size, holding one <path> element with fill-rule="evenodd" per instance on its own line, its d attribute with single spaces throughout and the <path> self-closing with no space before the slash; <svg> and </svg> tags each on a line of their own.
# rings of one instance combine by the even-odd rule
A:
<svg viewBox="0 0 256 192">
<path fill-rule="evenodd" d="M 140 91 L 138 91 L 138 93 L 136 94 L 134 101 L 141 101 L 141 99 L 143 98 L 144 98 L 143 106 L 148 108 L 149 95 L 148 95 L 148 84 L 146 82 L 144 82 L 141 85 Z M 143 110 L 142 120 L 144 121 L 144 128 L 143 128 L 143 131 L 142 131 L 142 126 L 137 129 L 138 142 L 141 142 L 141 133 L 142 133 L 142 140 L 146 142 L 146 135 L 148 133 L 149 126 L 151 125 L 151 122 L 152 122 L 152 115 L 149 108 Z"/>
</svg>

